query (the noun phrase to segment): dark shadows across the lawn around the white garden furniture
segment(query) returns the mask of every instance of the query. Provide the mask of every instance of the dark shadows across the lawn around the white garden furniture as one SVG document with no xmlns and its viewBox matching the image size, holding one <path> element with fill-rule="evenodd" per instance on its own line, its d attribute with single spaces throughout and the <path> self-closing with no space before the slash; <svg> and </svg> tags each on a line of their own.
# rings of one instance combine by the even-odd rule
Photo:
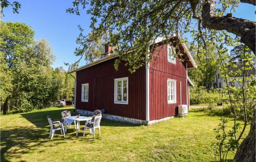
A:
<svg viewBox="0 0 256 162">
<path fill-rule="evenodd" d="M 68 109 L 72 112 L 72 110 Z M 34 126 L 22 126 L 22 123 L 17 123 L 16 126 L 6 127 L 1 130 L 1 161 L 8 161 L 8 158 L 19 158 L 21 154 L 29 153 L 30 151 L 35 151 L 37 146 L 47 145 L 45 144 L 51 141 L 49 137 L 50 126 L 47 120 L 47 115 L 50 115 L 53 120 L 61 121 L 60 113 L 64 111 L 61 110 L 51 110 L 51 111 L 40 111 L 33 113 L 21 114 L 22 117 L 26 118 L 29 122 L 34 124 Z M 103 119 L 100 123 L 101 126 L 138 126 L 129 123 L 118 123 L 110 120 Z M 101 138 L 95 137 L 92 138 L 92 134 L 88 131 L 86 132 L 86 139 L 81 138 L 83 136 L 83 126 L 84 122 L 80 123 L 80 130 L 78 132 L 78 138 L 76 138 L 76 131 L 74 125 L 71 128 L 67 129 L 66 138 L 63 138 L 63 135 L 60 134 L 60 131 L 56 131 L 54 134 L 53 144 L 58 145 L 61 143 L 66 143 L 67 140 L 82 141 L 86 143 L 94 143 L 94 140 L 101 140 Z"/>
</svg>

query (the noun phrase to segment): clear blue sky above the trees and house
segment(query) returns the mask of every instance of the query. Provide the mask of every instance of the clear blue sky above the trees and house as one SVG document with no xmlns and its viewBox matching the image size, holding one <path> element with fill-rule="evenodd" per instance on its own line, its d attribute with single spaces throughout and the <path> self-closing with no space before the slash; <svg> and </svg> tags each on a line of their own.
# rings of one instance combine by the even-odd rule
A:
<svg viewBox="0 0 256 162">
<path fill-rule="evenodd" d="M 19 14 L 13 14 L 9 7 L 4 10 L 5 17 L 3 20 L 25 22 L 35 31 L 36 39 L 47 39 L 56 56 L 54 68 L 63 66 L 67 69 L 64 62 L 74 63 L 77 61 L 78 57 L 74 55 L 77 47 L 75 41 L 79 34 L 77 26 L 80 24 L 84 33 L 89 33 L 91 31 L 89 28 L 90 16 L 85 11 L 80 16 L 66 13 L 66 9 L 72 7 L 72 1 L 21 0 L 19 3 L 22 5 Z M 254 12 L 255 7 L 253 5 L 241 4 L 233 16 L 255 21 Z M 189 37 L 189 35 L 186 36 Z M 83 65 L 86 62 L 82 61 L 80 64 Z"/>
</svg>

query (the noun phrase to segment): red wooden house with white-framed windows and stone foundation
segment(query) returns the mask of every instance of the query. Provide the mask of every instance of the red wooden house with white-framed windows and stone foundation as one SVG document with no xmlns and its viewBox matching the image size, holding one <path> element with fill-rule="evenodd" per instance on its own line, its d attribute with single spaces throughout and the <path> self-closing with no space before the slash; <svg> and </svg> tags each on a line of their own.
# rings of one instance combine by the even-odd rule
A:
<svg viewBox="0 0 256 162">
<path fill-rule="evenodd" d="M 115 70 L 116 55 L 106 55 L 72 71 L 76 72 L 76 112 L 92 115 L 94 110 L 104 109 L 103 118 L 139 124 L 177 116 L 178 105 L 189 106 L 189 86 L 193 83 L 187 68 L 197 65 L 184 43 L 179 44 L 184 60 L 180 61 L 168 55 L 178 49 L 162 41 L 156 41 L 158 55 L 154 61 L 132 74 L 122 65 Z M 105 53 L 111 49 L 106 45 Z"/>
</svg>

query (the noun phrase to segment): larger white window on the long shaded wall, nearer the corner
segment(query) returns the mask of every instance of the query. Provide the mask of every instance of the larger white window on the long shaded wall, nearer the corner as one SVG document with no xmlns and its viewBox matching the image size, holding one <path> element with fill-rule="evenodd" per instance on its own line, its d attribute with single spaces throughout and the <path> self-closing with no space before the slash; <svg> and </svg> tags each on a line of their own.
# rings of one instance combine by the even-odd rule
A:
<svg viewBox="0 0 256 162">
<path fill-rule="evenodd" d="M 128 104 L 128 77 L 115 79 L 114 103 Z"/>
</svg>

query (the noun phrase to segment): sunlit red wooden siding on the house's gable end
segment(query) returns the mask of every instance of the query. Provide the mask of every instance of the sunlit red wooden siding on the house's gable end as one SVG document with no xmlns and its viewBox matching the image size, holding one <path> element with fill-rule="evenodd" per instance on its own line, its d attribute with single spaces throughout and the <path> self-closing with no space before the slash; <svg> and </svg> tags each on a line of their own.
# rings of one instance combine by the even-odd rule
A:
<svg viewBox="0 0 256 162">
<path fill-rule="evenodd" d="M 187 104 L 186 63 L 176 58 L 176 64 L 167 61 L 167 45 L 160 45 L 150 65 L 150 120 L 178 114 L 178 105 Z M 176 103 L 167 103 L 167 79 L 176 80 Z M 181 82 L 181 102 L 180 102 Z"/>
</svg>

